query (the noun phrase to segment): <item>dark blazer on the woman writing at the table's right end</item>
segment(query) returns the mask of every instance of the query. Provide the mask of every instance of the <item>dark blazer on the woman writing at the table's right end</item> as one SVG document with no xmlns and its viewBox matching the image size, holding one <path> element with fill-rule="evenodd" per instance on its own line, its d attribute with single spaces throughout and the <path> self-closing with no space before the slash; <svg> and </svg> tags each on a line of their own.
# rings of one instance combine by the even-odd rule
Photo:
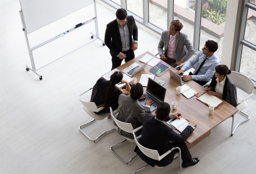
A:
<svg viewBox="0 0 256 174">
<path fill-rule="evenodd" d="M 213 87 L 213 91 L 215 91 L 215 86 L 217 84 L 216 77 L 212 77 L 212 82 L 209 87 Z M 237 105 L 237 95 L 236 95 L 236 85 L 228 76 L 226 76 L 224 88 L 223 88 L 223 100 L 228 102 L 230 105 L 236 107 Z"/>
</svg>

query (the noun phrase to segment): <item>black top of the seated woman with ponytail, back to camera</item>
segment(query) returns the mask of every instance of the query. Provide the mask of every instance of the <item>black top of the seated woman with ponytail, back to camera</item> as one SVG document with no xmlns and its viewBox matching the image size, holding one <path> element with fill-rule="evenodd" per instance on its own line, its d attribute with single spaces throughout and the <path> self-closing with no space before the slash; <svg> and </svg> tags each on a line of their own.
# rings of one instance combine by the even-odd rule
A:
<svg viewBox="0 0 256 174">
<path fill-rule="evenodd" d="M 109 85 L 110 85 L 110 81 L 106 81 L 103 77 L 98 79 L 98 81 L 96 82 L 96 84 L 92 89 L 91 102 L 94 102 L 97 106 L 104 104 L 106 92 Z M 112 93 L 112 104 L 111 104 L 111 108 L 113 109 L 113 111 L 116 108 L 118 108 L 118 98 L 120 94 L 122 94 L 122 92 L 115 87 Z M 104 108 L 101 111 L 95 112 L 95 113 L 100 114 L 100 113 L 106 113 L 106 112 L 110 112 L 110 111 Z"/>
</svg>

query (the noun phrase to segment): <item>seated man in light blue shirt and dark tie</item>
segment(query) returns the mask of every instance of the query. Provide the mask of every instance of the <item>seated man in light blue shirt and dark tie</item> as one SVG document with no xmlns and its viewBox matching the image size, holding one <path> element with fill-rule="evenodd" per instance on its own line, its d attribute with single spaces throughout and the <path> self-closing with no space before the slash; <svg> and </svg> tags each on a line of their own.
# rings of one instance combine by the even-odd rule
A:
<svg viewBox="0 0 256 174">
<path fill-rule="evenodd" d="M 192 59 L 190 59 L 181 70 L 177 71 L 177 74 L 183 74 L 184 71 L 188 70 L 191 66 L 193 66 L 196 62 L 198 65 L 195 68 L 195 71 L 189 72 L 188 76 L 183 76 L 183 81 L 194 80 L 199 85 L 205 85 L 207 82 L 211 80 L 215 72 L 215 67 L 220 65 L 219 57 L 216 56 L 214 52 L 218 49 L 218 43 L 213 40 L 207 40 L 205 42 L 202 50 L 195 55 Z"/>
</svg>

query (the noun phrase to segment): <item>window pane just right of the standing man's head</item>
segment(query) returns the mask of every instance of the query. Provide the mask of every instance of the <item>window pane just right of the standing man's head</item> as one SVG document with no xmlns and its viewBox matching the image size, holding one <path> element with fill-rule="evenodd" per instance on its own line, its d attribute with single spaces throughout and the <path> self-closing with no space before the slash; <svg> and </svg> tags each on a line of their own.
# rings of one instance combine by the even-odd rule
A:
<svg viewBox="0 0 256 174">
<path fill-rule="evenodd" d="M 143 0 L 126 0 L 127 10 L 143 18 Z"/>
</svg>

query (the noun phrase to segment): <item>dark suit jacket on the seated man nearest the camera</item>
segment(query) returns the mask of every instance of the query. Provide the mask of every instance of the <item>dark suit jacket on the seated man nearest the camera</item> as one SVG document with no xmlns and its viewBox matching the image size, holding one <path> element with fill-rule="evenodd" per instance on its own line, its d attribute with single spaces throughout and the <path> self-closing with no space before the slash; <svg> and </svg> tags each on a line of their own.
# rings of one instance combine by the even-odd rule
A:
<svg viewBox="0 0 256 174">
<path fill-rule="evenodd" d="M 194 129 L 191 126 L 187 126 L 181 134 L 177 134 L 170 126 L 156 120 L 155 116 L 152 114 L 147 114 L 143 118 L 142 134 L 139 143 L 145 148 L 157 150 L 158 154 L 161 156 L 170 150 L 168 148 L 168 145 L 171 144 L 170 141 L 184 142 L 192 131 L 194 131 Z M 140 151 L 138 146 L 136 146 L 134 151 L 143 161 L 152 167 L 155 165 L 161 167 L 167 166 L 172 163 L 174 157 L 174 153 L 170 153 L 165 158 L 158 161 L 147 157 Z"/>
</svg>

